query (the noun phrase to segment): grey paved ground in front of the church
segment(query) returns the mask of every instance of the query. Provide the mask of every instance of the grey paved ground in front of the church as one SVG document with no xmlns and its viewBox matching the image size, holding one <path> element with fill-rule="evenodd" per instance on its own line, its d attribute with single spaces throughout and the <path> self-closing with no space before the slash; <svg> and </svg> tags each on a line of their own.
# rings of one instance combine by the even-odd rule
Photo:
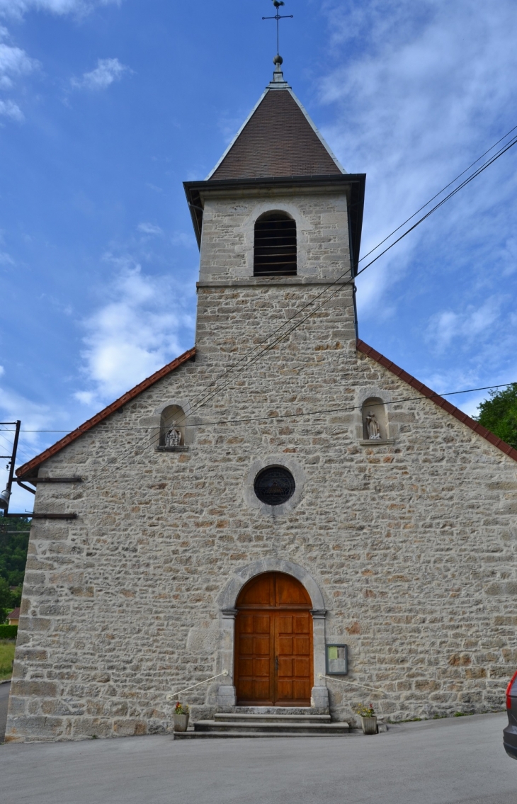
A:
<svg viewBox="0 0 517 804">
<path fill-rule="evenodd" d="M 432 720 L 370 737 L 8 744 L 0 789 L 16 804 L 515 804 L 506 722 Z"/>
</svg>

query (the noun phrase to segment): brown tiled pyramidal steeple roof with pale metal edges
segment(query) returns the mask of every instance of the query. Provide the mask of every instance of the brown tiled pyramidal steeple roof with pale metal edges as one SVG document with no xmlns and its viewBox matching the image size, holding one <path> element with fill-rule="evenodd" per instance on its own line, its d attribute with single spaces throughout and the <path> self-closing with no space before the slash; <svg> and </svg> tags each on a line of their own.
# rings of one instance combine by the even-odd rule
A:
<svg viewBox="0 0 517 804">
<path fill-rule="evenodd" d="M 207 179 L 274 178 L 344 174 L 281 71 L 244 121 Z"/>
</svg>

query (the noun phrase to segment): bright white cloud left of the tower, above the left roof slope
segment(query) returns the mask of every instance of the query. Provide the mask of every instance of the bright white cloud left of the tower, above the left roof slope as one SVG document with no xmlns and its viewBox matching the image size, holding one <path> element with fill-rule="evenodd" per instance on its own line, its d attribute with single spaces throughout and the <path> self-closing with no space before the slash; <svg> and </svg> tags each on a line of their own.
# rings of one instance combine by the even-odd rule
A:
<svg viewBox="0 0 517 804">
<path fill-rule="evenodd" d="M 180 328 L 192 329 L 183 300 L 164 277 L 149 277 L 129 260 L 108 289 L 111 301 L 97 310 L 85 327 L 84 375 L 89 388 L 76 393 L 88 405 L 113 400 L 183 351 Z M 175 292 L 174 292 L 175 290 Z"/>
</svg>

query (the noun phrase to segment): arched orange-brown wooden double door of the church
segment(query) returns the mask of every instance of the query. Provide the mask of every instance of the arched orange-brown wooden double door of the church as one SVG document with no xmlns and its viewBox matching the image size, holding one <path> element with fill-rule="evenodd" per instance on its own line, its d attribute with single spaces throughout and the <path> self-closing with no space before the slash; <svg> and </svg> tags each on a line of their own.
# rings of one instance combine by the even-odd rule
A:
<svg viewBox="0 0 517 804">
<path fill-rule="evenodd" d="M 312 604 L 283 572 L 250 580 L 236 604 L 234 679 L 239 706 L 310 706 Z"/>
</svg>

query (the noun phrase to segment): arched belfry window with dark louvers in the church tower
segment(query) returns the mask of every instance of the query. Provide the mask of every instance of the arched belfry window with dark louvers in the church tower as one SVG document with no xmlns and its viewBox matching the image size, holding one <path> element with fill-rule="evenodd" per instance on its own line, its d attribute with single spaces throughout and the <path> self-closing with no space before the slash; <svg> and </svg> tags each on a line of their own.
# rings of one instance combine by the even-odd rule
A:
<svg viewBox="0 0 517 804">
<path fill-rule="evenodd" d="M 285 212 L 265 212 L 255 223 L 253 276 L 296 275 L 296 221 Z"/>
</svg>

